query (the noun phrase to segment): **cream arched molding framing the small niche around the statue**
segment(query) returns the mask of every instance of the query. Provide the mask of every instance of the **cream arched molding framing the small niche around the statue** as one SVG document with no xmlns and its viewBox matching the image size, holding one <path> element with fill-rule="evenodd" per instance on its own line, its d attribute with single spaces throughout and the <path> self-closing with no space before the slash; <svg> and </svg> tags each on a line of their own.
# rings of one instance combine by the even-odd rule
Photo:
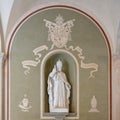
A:
<svg viewBox="0 0 120 120">
<path fill-rule="evenodd" d="M 67 118 L 69 118 L 69 119 L 79 119 L 79 80 L 80 80 L 80 77 L 79 77 L 79 63 L 78 63 L 78 61 L 77 61 L 77 59 L 76 59 L 76 57 L 72 54 L 72 53 L 70 53 L 69 51 L 66 51 L 66 50 L 62 50 L 62 49 L 57 49 L 57 50 L 53 50 L 53 51 L 51 51 L 51 52 L 49 52 L 45 57 L 44 57 L 44 59 L 42 60 L 42 62 L 41 62 L 41 66 L 40 66 L 40 71 L 41 71 L 41 73 L 40 73 L 40 91 L 41 91 L 41 116 L 40 116 L 40 118 L 41 119 L 54 119 L 53 117 L 45 117 L 45 116 L 43 116 L 43 86 L 44 86 L 44 84 L 43 84 L 43 82 L 44 82 L 44 68 L 45 68 L 45 63 L 46 63 L 46 61 L 48 60 L 48 58 L 50 57 L 50 56 L 52 56 L 52 55 L 55 55 L 55 54 L 67 54 L 67 55 L 69 55 L 73 60 L 74 60 L 74 62 L 75 62 L 75 66 L 76 66 L 76 81 L 77 81 L 77 86 L 76 86 L 76 91 L 77 91 L 77 115 L 76 115 L 76 117 L 67 117 Z"/>
</svg>

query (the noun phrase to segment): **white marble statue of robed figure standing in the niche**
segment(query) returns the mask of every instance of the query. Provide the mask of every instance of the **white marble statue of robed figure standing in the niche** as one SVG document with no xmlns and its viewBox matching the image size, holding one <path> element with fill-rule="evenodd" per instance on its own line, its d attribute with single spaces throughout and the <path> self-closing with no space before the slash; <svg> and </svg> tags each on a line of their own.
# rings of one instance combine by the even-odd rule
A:
<svg viewBox="0 0 120 120">
<path fill-rule="evenodd" d="M 58 60 L 48 76 L 48 95 L 50 112 L 69 112 L 71 85 L 62 72 L 62 61 Z"/>
</svg>

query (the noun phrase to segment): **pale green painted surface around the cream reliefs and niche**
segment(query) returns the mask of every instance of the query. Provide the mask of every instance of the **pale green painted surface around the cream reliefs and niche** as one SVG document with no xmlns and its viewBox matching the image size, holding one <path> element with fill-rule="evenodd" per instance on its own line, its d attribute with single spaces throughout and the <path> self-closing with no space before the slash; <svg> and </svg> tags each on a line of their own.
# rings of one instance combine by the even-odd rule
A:
<svg viewBox="0 0 120 120">
<path fill-rule="evenodd" d="M 13 40 L 10 52 L 10 120 L 40 120 L 40 64 L 37 67 L 31 67 L 30 74 L 24 75 L 24 68 L 21 62 L 24 60 L 34 60 L 33 50 L 41 45 L 47 45 L 49 48 L 52 42 L 48 39 L 48 29 L 45 27 L 43 19 L 54 22 L 58 14 L 61 14 L 65 21 L 75 19 L 74 27 L 72 27 L 72 41 L 67 46 L 79 46 L 83 49 L 85 63 L 97 63 L 99 65 L 98 72 L 94 73 L 95 78 L 88 79 L 91 69 L 80 68 L 80 91 L 79 91 L 79 120 L 109 120 L 109 54 L 104 37 L 99 29 L 87 17 L 69 9 L 54 8 L 29 18 L 18 30 Z M 56 49 L 56 48 L 54 48 Z M 78 60 L 75 52 L 70 51 Z M 42 53 L 42 59 L 48 52 Z M 47 83 L 47 75 L 50 71 L 48 67 L 50 61 L 55 60 L 58 56 L 62 56 L 65 60 L 65 72 L 68 81 L 72 85 L 71 106 L 70 111 L 76 112 L 76 67 L 73 59 L 64 53 L 53 55 L 46 63 L 45 83 Z M 41 60 L 42 60 L 41 59 Z M 68 64 L 68 65 L 67 65 Z M 53 63 L 50 64 L 51 68 Z M 47 68 L 48 67 L 48 68 Z M 68 69 L 68 67 L 70 69 Z M 47 85 L 45 84 L 45 87 Z M 47 93 L 44 90 L 45 111 L 48 111 Z M 18 107 L 23 95 L 27 94 L 32 109 L 23 113 Z M 90 100 L 95 95 L 98 100 L 97 108 L 100 113 L 88 113 L 90 110 Z M 43 105 L 44 106 L 44 105 Z"/>
</svg>

